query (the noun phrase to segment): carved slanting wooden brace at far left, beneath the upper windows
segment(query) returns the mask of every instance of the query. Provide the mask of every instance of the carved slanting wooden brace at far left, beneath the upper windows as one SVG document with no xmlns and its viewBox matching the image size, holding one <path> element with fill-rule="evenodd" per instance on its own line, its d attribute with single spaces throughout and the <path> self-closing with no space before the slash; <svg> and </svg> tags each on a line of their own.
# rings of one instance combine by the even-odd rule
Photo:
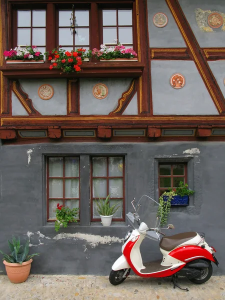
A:
<svg viewBox="0 0 225 300">
<path fill-rule="evenodd" d="M 33 107 L 32 100 L 28 97 L 28 94 L 22 90 L 18 80 L 12 82 L 11 90 L 29 115 L 41 115 L 41 113 Z"/>
</svg>

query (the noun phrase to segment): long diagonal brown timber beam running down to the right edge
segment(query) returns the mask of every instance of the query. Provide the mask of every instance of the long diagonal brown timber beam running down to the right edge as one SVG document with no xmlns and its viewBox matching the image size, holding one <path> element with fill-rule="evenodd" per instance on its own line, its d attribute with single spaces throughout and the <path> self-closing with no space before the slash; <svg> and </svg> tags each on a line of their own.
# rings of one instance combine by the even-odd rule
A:
<svg viewBox="0 0 225 300">
<path fill-rule="evenodd" d="M 202 77 L 202 80 L 218 110 L 219 113 L 225 113 L 225 99 L 223 94 L 212 74 L 210 67 L 201 54 L 200 46 L 191 30 L 191 27 L 178 3 L 178 0 L 165 0 L 175 22 L 188 46 L 191 57 L 196 64 L 196 67 Z"/>
</svg>

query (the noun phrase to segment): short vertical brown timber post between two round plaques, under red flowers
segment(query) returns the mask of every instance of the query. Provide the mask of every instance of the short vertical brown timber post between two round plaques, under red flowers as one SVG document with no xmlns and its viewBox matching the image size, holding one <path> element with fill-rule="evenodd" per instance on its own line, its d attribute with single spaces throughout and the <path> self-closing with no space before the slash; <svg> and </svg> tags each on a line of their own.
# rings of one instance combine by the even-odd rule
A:
<svg viewBox="0 0 225 300">
<path fill-rule="evenodd" d="M 67 80 L 67 114 L 79 114 L 79 81 Z"/>
</svg>

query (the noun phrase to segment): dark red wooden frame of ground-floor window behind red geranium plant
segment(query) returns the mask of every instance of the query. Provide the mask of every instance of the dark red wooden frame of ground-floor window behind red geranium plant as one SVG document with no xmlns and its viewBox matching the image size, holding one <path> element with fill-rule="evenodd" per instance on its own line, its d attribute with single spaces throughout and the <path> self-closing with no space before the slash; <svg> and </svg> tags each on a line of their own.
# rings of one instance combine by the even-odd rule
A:
<svg viewBox="0 0 225 300">
<path fill-rule="evenodd" d="M 62 177 L 55 177 L 55 176 L 49 176 L 49 158 L 63 158 L 63 174 Z M 77 177 L 65 177 L 65 158 L 78 158 L 79 159 L 79 176 Z M 51 198 L 49 197 L 49 179 L 62 179 L 63 180 L 63 191 L 62 191 L 62 195 L 63 197 L 61 198 Z M 69 198 L 65 198 L 65 179 L 79 179 L 79 198 L 74 198 L 74 197 L 69 197 Z M 67 199 L 71 199 L 71 200 L 79 200 L 79 208 L 80 208 L 80 157 L 79 156 L 73 156 L 73 155 L 69 155 L 69 156 L 65 156 L 65 155 L 51 155 L 51 156 L 47 156 L 47 160 L 46 160 L 46 190 L 47 190 L 47 198 L 46 198 L 46 205 L 47 205 L 47 222 L 54 222 L 55 219 L 51 219 L 49 218 L 49 200 L 51 199 L 58 199 L 58 200 L 62 200 L 62 204 L 63 206 L 65 205 L 65 200 Z M 56 208 L 56 207 L 55 207 Z M 78 219 L 77 221 L 80 220 L 80 211 L 78 214 Z"/>
</svg>

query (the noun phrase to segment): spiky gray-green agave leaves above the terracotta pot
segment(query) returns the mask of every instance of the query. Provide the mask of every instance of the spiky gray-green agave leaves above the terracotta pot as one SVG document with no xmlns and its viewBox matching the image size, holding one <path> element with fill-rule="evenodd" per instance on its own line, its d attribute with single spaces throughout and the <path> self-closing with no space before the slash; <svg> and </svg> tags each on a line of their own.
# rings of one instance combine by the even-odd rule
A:
<svg viewBox="0 0 225 300">
<path fill-rule="evenodd" d="M 20 244 L 19 237 L 16 239 L 14 235 L 12 235 L 11 242 L 8 240 L 8 246 L 11 251 L 11 254 L 5 254 L 0 250 L 0 253 L 4 256 L 3 259 L 5 259 L 7 262 L 11 263 L 20 263 L 24 261 L 28 261 L 30 258 L 32 258 L 34 255 L 38 255 L 39 253 L 34 253 L 31 255 L 28 255 L 29 252 L 29 241 L 27 240 L 25 243 L 25 246 L 23 247 Z M 2 259 L 2 260 L 3 260 Z"/>
</svg>

